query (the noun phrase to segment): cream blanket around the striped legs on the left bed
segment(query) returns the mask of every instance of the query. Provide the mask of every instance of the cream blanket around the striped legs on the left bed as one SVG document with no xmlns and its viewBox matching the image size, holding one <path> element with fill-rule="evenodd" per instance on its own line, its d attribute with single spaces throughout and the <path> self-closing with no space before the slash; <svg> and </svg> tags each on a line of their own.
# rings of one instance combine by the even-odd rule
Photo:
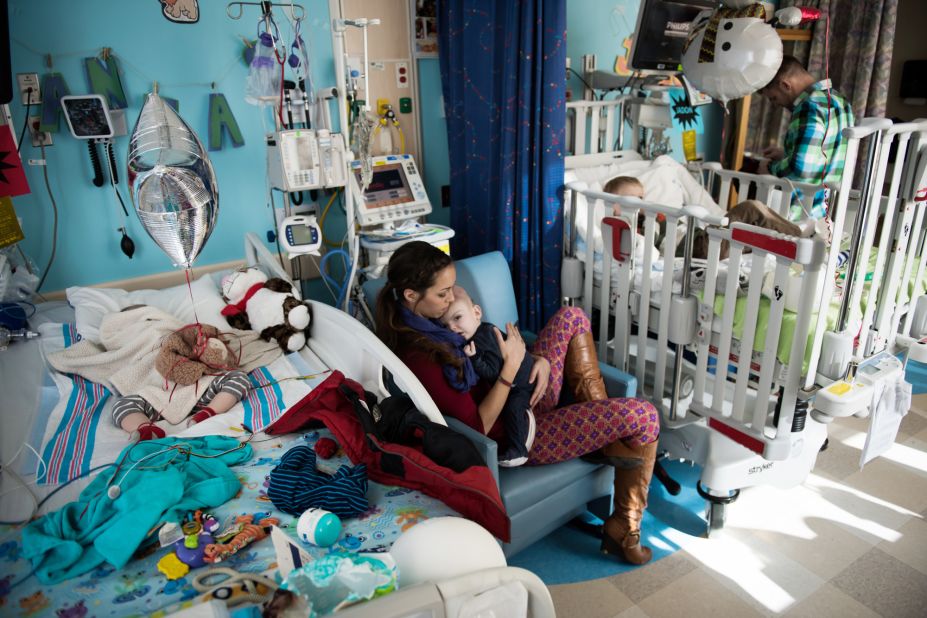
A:
<svg viewBox="0 0 927 618">
<path fill-rule="evenodd" d="M 142 307 L 111 313 L 100 324 L 100 343 L 82 340 L 48 355 L 49 364 L 63 373 L 73 373 L 102 384 L 120 396 L 140 395 L 171 424 L 177 424 L 193 409 L 213 378 L 206 376 L 194 385 L 171 383 L 155 370 L 161 340 L 184 326 L 180 320 L 156 309 Z M 263 341 L 254 331 L 230 330 L 228 342 L 240 353 L 239 366 L 248 372 L 269 365 L 281 354 L 280 346 Z"/>
</svg>

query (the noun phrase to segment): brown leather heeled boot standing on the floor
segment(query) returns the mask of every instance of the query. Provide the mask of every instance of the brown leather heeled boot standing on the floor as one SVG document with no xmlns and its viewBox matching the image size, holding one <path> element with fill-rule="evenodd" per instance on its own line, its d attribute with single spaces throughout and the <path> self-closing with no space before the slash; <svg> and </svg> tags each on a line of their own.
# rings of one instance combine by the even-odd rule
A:
<svg viewBox="0 0 927 618">
<path fill-rule="evenodd" d="M 615 442 L 602 451 L 612 457 L 633 453 L 641 462 L 634 468 L 615 468 L 615 508 L 602 527 L 602 551 L 620 556 L 631 564 L 646 564 L 653 557 L 653 552 L 641 545 L 641 519 L 647 508 L 647 491 L 657 457 L 657 443 L 630 447 Z"/>
</svg>

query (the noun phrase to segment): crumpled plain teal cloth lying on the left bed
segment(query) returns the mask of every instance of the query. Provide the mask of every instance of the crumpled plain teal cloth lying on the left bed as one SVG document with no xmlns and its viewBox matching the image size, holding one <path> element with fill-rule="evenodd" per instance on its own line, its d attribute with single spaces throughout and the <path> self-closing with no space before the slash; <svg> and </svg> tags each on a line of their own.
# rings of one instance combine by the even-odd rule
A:
<svg viewBox="0 0 927 618">
<path fill-rule="evenodd" d="M 159 454 L 174 445 L 209 457 L 177 450 Z M 161 524 L 235 497 L 241 484 L 229 466 L 252 454 L 250 445 L 226 436 L 164 438 L 126 447 L 116 460 L 122 462 L 118 470 L 103 470 L 76 502 L 23 529 L 23 555 L 44 584 L 82 575 L 104 562 L 122 568 Z M 107 489 L 116 483 L 120 494 L 113 500 Z"/>
</svg>

